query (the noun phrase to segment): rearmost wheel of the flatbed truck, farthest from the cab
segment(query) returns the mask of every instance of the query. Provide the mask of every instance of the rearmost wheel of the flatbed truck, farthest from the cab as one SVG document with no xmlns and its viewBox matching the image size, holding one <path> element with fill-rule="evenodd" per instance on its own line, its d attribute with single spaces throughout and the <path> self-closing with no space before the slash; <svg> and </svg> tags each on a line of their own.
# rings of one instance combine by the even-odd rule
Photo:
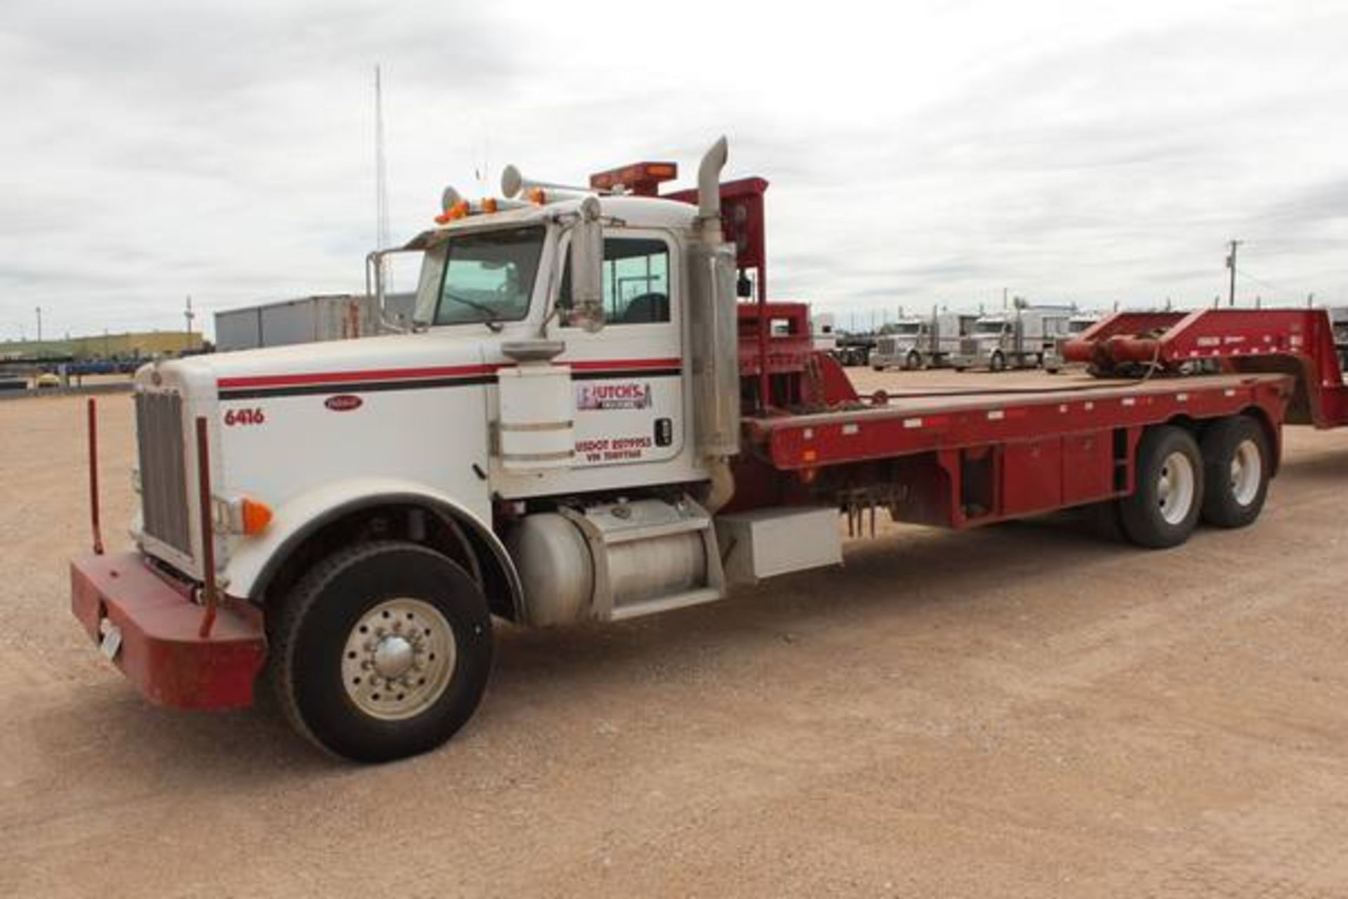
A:
<svg viewBox="0 0 1348 899">
<path fill-rule="evenodd" d="M 1224 418 L 1202 435 L 1206 492 L 1202 520 L 1217 527 L 1246 527 L 1263 509 L 1273 470 L 1268 437 L 1248 415 Z"/>
</svg>

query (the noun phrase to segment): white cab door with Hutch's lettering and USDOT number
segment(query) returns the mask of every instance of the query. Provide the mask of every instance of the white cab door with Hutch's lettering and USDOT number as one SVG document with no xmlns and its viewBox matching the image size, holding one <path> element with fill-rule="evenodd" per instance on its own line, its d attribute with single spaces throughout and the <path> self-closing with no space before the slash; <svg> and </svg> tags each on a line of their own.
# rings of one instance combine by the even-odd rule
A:
<svg viewBox="0 0 1348 899">
<path fill-rule="evenodd" d="M 576 468 L 673 458 L 683 449 L 681 260 L 659 230 L 604 239 L 604 329 L 570 326 L 570 272 L 558 318 L 576 395 Z"/>
</svg>

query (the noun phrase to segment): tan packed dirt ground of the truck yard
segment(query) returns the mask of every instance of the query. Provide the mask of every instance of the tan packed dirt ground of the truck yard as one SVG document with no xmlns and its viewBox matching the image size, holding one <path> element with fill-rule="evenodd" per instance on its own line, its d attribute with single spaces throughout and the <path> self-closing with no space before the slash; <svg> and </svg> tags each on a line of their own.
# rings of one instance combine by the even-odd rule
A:
<svg viewBox="0 0 1348 899">
<path fill-rule="evenodd" d="M 81 410 L 0 404 L 3 896 L 1348 896 L 1348 431 L 1289 429 L 1263 518 L 1177 550 L 888 526 L 841 571 L 503 631 L 456 740 L 363 768 L 151 708 L 89 643 Z"/>
</svg>

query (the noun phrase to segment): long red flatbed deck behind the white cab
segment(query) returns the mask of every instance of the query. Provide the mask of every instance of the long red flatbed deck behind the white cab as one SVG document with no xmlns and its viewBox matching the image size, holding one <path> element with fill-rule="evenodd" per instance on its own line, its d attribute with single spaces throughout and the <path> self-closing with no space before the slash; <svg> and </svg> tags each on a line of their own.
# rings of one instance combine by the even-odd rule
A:
<svg viewBox="0 0 1348 899">
<path fill-rule="evenodd" d="M 962 528 L 1130 496 L 1139 442 L 1155 426 L 1201 433 L 1209 422 L 1248 416 L 1267 438 L 1271 474 L 1294 390 L 1293 377 L 1277 373 L 999 379 L 922 390 L 886 379 L 883 395 L 861 402 L 748 416 L 745 446 L 759 465 L 840 505 Z"/>
</svg>

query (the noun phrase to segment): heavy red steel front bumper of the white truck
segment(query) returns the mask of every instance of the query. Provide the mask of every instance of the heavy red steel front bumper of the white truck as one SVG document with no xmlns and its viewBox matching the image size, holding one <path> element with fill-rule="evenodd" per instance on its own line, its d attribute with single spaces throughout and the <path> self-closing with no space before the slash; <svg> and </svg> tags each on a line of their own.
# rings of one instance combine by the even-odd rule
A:
<svg viewBox="0 0 1348 899">
<path fill-rule="evenodd" d="M 221 607 L 210 636 L 205 612 L 150 570 L 136 553 L 70 563 L 70 608 L 96 643 L 102 620 L 121 635 L 113 662 L 155 705 L 232 709 L 252 704 L 267 654 L 260 616 Z"/>
</svg>

